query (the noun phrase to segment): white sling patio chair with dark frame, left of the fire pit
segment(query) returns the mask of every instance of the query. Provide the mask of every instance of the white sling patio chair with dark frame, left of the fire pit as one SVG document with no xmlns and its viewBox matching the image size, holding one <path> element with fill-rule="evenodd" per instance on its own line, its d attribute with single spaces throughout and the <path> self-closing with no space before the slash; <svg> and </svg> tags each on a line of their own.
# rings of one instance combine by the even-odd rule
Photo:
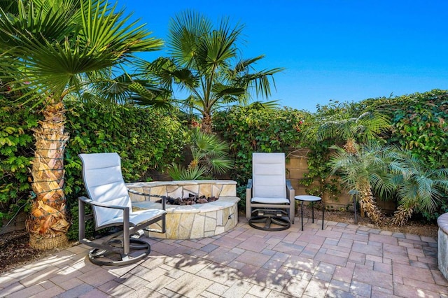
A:
<svg viewBox="0 0 448 298">
<path fill-rule="evenodd" d="M 83 162 L 83 180 L 87 197 L 79 197 L 79 241 L 92 247 L 89 259 L 106 266 L 132 264 L 151 253 L 149 243 L 137 239 L 139 231 L 162 220 L 165 233 L 165 198 L 160 209 L 133 211 L 131 199 L 121 173 L 120 156 L 117 153 L 80 154 Z M 141 194 L 139 192 L 135 192 Z M 148 195 L 148 194 L 141 194 Z M 153 197 L 153 196 L 151 196 Z M 85 213 L 85 205 L 92 206 L 93 213 Z M 87 220 L 94 220 L 95 230 L 118 227 L 119 232 L 102 239 L 85 238 Z"/>
</svg>

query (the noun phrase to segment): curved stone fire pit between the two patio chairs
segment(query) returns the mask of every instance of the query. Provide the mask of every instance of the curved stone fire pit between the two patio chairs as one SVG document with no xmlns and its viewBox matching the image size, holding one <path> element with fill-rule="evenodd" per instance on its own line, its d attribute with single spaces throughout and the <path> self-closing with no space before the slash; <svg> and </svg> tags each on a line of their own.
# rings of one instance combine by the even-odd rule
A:
<svg viewBox="0 0 448 298">
<path fill-rule="evenodd" d="M 167 232 L 165 234 L 149 232 L 148 236 L 164 239 L 196 239 L 209 237 L 233 229 L 238 222 L 237 183 L 233 180 L 179 180 L 127 183 L 127 187 L 144 192 L 173 198 L 185 198 L 190 194 L 205 197 L 217 197 L 217 201 L 195 205 L 167 205 Z M 130 194 L 133 208 L 161 208 L 156 203 L 160 198 L 151 200 L 137 194 Z M 159 223 L 151 225 L 160 229 Z"/>
</svg>

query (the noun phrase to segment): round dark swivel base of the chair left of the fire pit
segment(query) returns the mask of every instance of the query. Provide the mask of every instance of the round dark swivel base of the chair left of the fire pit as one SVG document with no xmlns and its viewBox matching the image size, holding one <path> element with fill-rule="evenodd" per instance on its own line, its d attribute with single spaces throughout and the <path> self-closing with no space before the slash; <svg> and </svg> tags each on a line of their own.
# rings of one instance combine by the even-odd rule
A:
<svg viewBox="0 0 448 298">
<path fill-rule="evenodd" d="M 109 242 L 111 246 L 116 246 L 116 244 L 120 246 L 122 243 L 121 241 L 120 243 L 115 241 Z M 94 248 L 89 252 L 89 260 L 99 266 L 125 266 L 139 262 L 147 257 L 151 253 L 151 246 L 145 241 L 131 238 L 130 250 L 129 254 L 123 255 L 116 251 Z"/>
</svg>

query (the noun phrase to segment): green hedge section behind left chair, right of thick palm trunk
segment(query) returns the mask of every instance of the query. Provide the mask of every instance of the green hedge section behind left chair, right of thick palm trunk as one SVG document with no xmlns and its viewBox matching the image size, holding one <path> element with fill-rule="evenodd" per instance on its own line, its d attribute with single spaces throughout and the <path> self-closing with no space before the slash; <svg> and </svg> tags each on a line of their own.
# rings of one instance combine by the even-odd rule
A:
<svg viewBox="0 0 448 298">
<path fill-rule="evenodd" d="M 185 141 L 176 115 L 151 108 L 66 103 L 66 194 L 78 196 L 83 185 L 79 153 L 118 152 L 125 181 L 151 180 L 181 156 Z"/>
</svg>

